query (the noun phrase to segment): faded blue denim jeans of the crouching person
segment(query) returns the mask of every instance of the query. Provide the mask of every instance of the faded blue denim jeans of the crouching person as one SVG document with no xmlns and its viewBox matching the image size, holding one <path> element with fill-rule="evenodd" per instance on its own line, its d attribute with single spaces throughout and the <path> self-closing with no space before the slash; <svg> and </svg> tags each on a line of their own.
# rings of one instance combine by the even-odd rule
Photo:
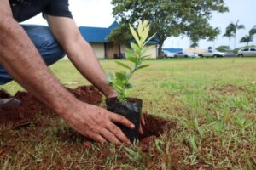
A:
<svg viewBox="0 0 256 170">
<path fill-rule="evenodd" d="M 32 40 L 35 47 L 38 48 L 39 54 L 46 65 L 52 65 L 59 59 L 64 57 L 64 51 L 56 42 L 55 37 L 52 35 L 48 26 L 22 26 L 26 31 L 28 37 Z M 20 65 L 22 66 L 22 65 Z M 13 78 L 9 73 L 0 65 L 0 85 L 12 81 Z"/>
</svg>

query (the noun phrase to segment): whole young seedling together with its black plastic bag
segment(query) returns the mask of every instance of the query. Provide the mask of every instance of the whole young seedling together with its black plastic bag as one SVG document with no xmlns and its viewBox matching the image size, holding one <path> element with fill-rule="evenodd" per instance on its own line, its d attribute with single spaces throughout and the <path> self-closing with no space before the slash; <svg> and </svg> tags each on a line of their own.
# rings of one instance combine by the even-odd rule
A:
<svg viewBox="0 0 256 170">
<path fill-rule="evenodd" d="M 132 88 L 131 76 L 133 74 L 149 65 L 143 65 L 144 59 L 150 57 L 146 52 L 148 47 L 145 46 L 154 37 L 154 35 L 148 38 L 149 26 L 148 21 L 139 21 L 137 31 L 130 25 L 131 34 L 135 39 L 135 42 L 131 42 L 131 49 L 126 48 L 125 57 L 132 65 L 126 65 L 121 62 L 117 62 L 118 65 L 124 67 L 126 71 L 117 71 L 114 74 L 109 74 L 109 85 L 115 88 L 118 93 L 117 98 L 107 99 L 108 111 L 118 113 L 125 116 L 134 125 L 134 129 L 129 129 L 118 125 L 125 135 L 134 142 L 138 139 L 138 130 L 140 127 L 140 117 L 142 113 L 143 100 L 127 98 L 126 90 Z M 128 70 L 128 71 L 127 71 Z"/>
</svg>

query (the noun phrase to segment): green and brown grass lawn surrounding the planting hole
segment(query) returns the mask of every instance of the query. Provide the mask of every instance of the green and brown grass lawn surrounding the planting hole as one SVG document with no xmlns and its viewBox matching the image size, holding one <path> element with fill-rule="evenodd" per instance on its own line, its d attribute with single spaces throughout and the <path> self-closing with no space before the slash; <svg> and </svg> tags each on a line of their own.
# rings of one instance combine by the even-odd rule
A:
<svg viewBox="0 0 256 170">
<path fill-rule="evenodd" d="M 120 68 L 113 60 L 101 63 L 107 72 Z M 0 168 L 256 169 L 256 58 L 147 63 L 151 66 L 133 77 L 135 88 L 129 93 L 143 99 L 144 111 L 177 122 L 177 129 L 154 140 L 148 153 L 137 146 L 112 144 L 84 150 L 79 142 L 55 137 L 66 126 L 60 119 L 40 115 L 39 120 L 52 126 L 39 132 L 35 127 L 19 131 L 0 127 Z M 51 69 L 71 88 L 89 84 L 68 61 Z M 2 88 L 11 94 L 22 89 L 15 82 Z M 7 145 L 8 154 L 2 156 L 1 147 Z M 120 161 L 122 156 L 126 160 Z"/>
</svg>

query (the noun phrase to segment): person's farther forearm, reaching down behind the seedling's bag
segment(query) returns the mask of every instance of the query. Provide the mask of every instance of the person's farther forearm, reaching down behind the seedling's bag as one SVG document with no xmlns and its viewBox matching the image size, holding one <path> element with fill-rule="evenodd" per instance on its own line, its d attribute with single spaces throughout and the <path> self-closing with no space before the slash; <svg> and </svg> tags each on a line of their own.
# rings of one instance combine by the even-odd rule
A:
<svg viewBox="0 0 256 170">
<path fill-rule="evenodd" d="M 96 88 L 100 89 L 106 97 L 110 98 L 117 95 L 113 88 L 108 85 L 108 77 L 96 59 L 96 54 L 84 39 L 80 38 L 78 42 L 69 45 L 65 50 L 79 72 Z"/>
</svg>

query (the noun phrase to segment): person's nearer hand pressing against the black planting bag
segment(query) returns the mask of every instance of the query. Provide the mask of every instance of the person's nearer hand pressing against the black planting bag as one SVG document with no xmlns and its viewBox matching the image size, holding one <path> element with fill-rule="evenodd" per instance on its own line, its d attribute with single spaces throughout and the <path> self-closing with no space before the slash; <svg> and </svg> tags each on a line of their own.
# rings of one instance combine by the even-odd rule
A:
<svg viewBox="0 0 256 170">
<path fill-rule="evenodd" d="M 72 110 L 63 118 L 70 127 L 85 137 L 101 144 L 107 141 L 114 144 L 130 143 L 125 134 L 114 124 L 134 128 L 125 117 L 83 102 L 79 102 Z"/>
</svg>

